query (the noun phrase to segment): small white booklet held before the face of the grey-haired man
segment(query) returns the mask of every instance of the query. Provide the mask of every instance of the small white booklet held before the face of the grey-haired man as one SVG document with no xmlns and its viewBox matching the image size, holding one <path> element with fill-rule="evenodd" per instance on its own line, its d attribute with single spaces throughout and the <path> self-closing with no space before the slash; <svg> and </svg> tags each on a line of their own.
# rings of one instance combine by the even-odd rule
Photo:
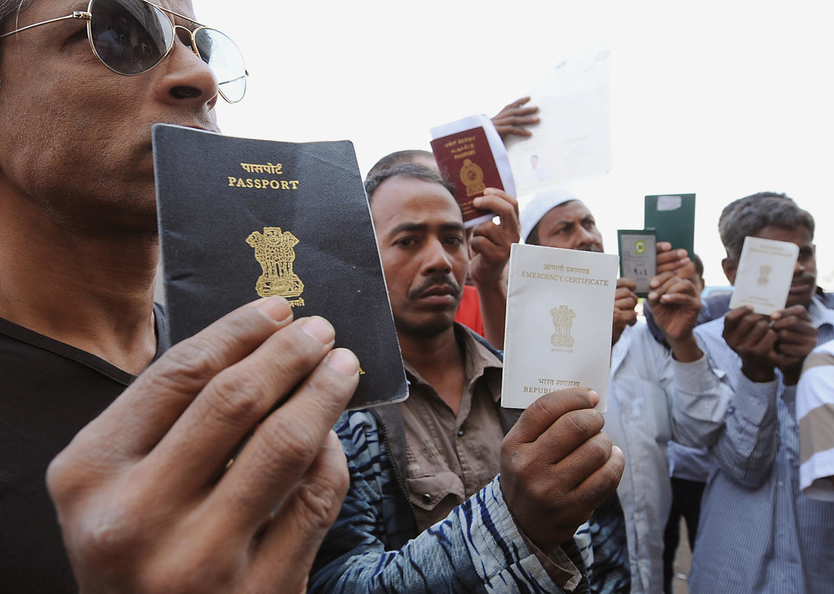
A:
<svg viewBox="0 0 834 594">
<path fill-rule="evenodd" d="M 799 246 L 789 241 L 744 238 L 730 309 L 751 305 L 761 315 L 784 309 L 798 256 Z"/>
</svg>

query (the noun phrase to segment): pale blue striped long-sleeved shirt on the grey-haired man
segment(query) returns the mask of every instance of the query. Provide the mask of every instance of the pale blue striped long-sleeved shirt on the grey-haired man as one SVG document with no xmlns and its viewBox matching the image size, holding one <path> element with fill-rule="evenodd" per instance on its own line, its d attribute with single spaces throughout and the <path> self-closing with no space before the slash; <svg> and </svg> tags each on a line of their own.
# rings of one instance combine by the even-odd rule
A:
<svg viewBox="0 0 834 594">
<path fill-rule="evenodd" d="M 819 342 L 834 339 L 834 310 L 808 307 Z M 706 592 L 830 593 L 834 506 L 799 490 L 796 386 L 754 383 L 721 336 L 723 318 L 695 329 L 712 365 L 735 394 L 710 453 L 689 588 Z M 680 394 L 676 397 L 681 397 Z"/>
</svg>

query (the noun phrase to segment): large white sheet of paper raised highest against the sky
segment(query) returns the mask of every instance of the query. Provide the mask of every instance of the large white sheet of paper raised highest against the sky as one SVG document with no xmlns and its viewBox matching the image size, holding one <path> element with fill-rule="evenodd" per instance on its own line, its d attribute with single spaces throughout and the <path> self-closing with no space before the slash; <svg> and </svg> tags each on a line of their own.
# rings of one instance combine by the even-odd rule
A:
<svg viewBox="0 0 834 594">
<path fill-rule="evenodd" d="M 530 90 L 540 123 L 506 143 L 518 196 L 611 169 L 609 63 L 609 48 L 577 53 Z"/>
</svg>

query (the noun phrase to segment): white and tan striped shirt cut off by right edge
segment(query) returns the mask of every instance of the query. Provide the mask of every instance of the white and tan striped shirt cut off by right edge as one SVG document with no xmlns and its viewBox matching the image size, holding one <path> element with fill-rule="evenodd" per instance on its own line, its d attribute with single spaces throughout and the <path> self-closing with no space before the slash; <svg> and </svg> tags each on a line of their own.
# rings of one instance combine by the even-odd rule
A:
<svg viewBox="0 0 834 594">
<path fill-rule="evenodd" d="M 806 496 L 834 501 L 834 340 L 805 360 L 796 387 L 799 486 Z"/>
</svg>

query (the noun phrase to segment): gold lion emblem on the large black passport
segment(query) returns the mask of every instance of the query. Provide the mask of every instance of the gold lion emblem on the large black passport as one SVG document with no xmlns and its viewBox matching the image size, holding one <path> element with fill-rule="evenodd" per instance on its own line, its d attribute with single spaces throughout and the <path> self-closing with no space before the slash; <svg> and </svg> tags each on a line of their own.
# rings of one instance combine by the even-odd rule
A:
<svg viewBox="0 0 834 594">
<path fill-rule="evenodd" d="M 263 274 L 255 283 L 255 290 L 261 297 L 281 295 L 290 306 L 304 305 L 304 299 L 293 300 L 304 292 L 304 283 L 293 271 L 294 247 L 299 239 L 280 227 L 264 227 L 264 233 L 254 231 L 246 243 L 255 249 L 255 259 L 261 265 Z"/>
</svg>

